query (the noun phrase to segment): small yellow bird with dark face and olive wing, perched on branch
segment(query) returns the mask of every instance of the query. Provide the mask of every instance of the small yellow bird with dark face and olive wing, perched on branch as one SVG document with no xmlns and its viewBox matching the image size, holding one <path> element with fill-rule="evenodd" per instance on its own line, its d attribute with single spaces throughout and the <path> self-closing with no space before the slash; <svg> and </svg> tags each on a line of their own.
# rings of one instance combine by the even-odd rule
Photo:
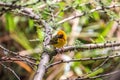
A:
<svg viewBox="0 0 120 80">
<path fill-rule="evenodd" d="M 59 30 L 57 34 L 50 40 L 50 45 L 55 48 L 61 48 L 67 43 L 67 35 L 63 30 Z"/>
</svg>

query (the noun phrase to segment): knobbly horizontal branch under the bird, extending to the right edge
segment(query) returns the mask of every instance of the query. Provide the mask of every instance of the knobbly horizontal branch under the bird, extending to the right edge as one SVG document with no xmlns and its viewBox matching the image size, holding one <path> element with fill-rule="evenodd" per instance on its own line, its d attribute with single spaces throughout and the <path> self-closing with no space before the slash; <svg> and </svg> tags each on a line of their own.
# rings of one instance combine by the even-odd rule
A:
<svg viewBox="0 0 120 80">
<path fill-rule="evenodd" d="M 113 48 L 120 46 L 120 42 L 97 43 L 97 44 L 83 44 L 76 46 L 66 46 L 63 49 L 55 49 L 51 55 L 55 56 L 57 53 L 64 53 L 68 51 L 84 51 L 93 49 Z"/>
</svg>

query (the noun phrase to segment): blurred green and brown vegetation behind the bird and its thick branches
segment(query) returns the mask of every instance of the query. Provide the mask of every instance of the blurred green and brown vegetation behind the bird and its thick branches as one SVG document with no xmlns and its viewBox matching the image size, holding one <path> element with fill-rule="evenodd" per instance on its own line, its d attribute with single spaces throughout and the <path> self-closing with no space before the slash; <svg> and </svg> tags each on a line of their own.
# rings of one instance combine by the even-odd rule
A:
<svg viewBox="0 0 120 80">
<path fill-rule="evenodd" d="M 120 41 L 119 0 L 0 0 L 0 80 L 33 79 L 45 37 L 40 20 L 49 24 L 52 34 L 64 30 L 66 46 Z M 118 45 L 57 54 L 47 65 L 60 60 L 108 57 L 54 65 L 43 80 L 117 80 L 120 58 L 110 56 L 118 55 L 119 50 Z M 118 73 L 111 75 L 113 71 Z"/>
</svg>

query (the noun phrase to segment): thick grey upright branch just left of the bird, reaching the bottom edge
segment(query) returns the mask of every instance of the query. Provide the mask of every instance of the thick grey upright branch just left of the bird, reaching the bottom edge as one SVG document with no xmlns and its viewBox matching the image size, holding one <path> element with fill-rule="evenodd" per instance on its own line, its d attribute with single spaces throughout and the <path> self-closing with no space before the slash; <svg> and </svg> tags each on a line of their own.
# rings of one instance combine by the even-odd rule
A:
<svg viewBox="0 0 120 80">
<path fill-rule="evenodd" d="M 45 39 L 44 39 L 44 52 L 42 53 L 40 63 L 38 65 L 38 70 L 36 71 L 34 80 L 42 80 L 45 73 L 46 73 L 46 64 L 49 62 L 50 55 L 48 52 L 47 44 L 49 43 L 51 39 L 51 31 L 50 26 L 45 22 L 42 21 L 44 27 L 45 27 Z"/>
</svg>

